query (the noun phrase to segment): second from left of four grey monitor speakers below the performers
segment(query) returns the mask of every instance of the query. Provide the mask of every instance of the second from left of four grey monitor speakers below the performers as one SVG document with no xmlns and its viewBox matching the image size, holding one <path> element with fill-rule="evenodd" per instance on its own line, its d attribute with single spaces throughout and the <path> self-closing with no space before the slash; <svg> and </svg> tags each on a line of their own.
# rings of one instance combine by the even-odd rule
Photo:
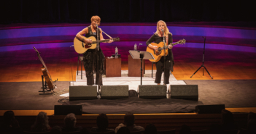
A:
<svg viewBox="0 0 256 134">
<path fill-rule="evenodd" d="M 102 85 L 101 99 L 123 99 L 129 96 L 129 85 Z"/>
</svg>

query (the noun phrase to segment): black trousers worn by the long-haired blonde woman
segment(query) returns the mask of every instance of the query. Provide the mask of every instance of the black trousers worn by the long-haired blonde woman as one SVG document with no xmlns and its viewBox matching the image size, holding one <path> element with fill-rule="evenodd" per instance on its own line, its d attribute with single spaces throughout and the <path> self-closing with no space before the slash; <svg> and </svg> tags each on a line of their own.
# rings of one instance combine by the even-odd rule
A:
<svg viewBox="0 0 256 134">
<path fill-rule="evenodd" d="M 166 61 L 166 64 L 168 64 L 167 62 L 168 61 Z M 161 83 L 161 78 L 162 78 L 162 74 L 163 74 L 163 61 L 160 60 L 159 62 L 156 62 L 155 67 L 157 68 L 157 71 L 155 73 L 155 83 Z M 164 84 L 168 84 L 169 78 L 170 78 L 170 70 L 165 68 L 164 75 L 166 76 L 166 83 L 164 83 Z"/>
</svg>

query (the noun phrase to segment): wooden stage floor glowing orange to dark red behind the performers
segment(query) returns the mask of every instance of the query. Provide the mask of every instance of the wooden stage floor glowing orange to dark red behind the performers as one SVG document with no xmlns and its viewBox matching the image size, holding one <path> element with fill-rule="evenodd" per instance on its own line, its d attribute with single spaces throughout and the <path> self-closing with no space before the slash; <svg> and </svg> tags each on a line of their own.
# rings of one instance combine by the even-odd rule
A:
<svg viewBox="0 0 256 134">
<path fill-rule="evenodd" d="M 102 46 L 105 56 L 114 54 L 115 46 Z M 132 46 L 119 46 L 122 70 L 128 70 L 128 50 Z M 145 50 L 146 46 L 142 46 Z M 73 48 L 38 49 L 53 80 L 75 80 L 77 53 Z M 174 47 L 174 77 L 177 80 L 211 80 L 206 70 L 199 70 L 203 59 L 203 49 Z M 214 80 L 255 80 L 256 53 L 206 49 L 204 65 Z M 41 81 L 42 64 L 34 49 L 0 52 L 0 82 Z M 146 61 L 146 70 L 151 70 L 151 62 Z M 79 69 L 80 70 L 80 69 Z M 84 69 L 83 69 L 84 70 Z M 154 64 L 155 70 L 155 64 Z M 203 75 L 204 72 L 204 75 Z M 193 75 L 193 78 L 190 76 Z"/>
</svg>

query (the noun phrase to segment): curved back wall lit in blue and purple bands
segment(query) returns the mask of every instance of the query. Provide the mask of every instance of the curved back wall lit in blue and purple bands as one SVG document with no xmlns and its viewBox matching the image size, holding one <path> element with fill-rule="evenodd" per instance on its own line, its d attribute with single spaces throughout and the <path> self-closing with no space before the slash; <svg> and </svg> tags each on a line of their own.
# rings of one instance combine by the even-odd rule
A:
<svg viewBox="0 0 256 134">
<path fill-rule="evenodd" d="M 74 36 L 85 26 L 58 26 L 44 28 L 16 28 L 0 30 L 0 51 L 16 51 L 24 49 L 38 49 L 69 47 L 73 45 Z M 131 46 L 135 43 L 145 45 L 155 32 L 152 25 L 103 25 L 104 32 L 113 38 L 120 36 L 120 42 L 107 44 L 109 46 Z M 185 45 L 174 47 L 203 48 L 203 38 L 206 37 L 206 49 L 223 49 L 231 51 L 256 52 L 256 30 L 242 28 L 207 28 L 194 26 L 168 26 L 173 33 L 174 42 L 185 38 Z M 49 38 L 51 39 L 49 40 Z M 40 41 L 31 41 L 40 39 Z M 45 38 L 45 40 L 44 40 Z M 64 38 L 64 39 L 63 39 Z M 105 37 L 107 38 L 107 37 Z M 49 40 L 49 41 L 48 41 Z M 15 42 L 16 41 L 16 42 Z"/>
</svg>

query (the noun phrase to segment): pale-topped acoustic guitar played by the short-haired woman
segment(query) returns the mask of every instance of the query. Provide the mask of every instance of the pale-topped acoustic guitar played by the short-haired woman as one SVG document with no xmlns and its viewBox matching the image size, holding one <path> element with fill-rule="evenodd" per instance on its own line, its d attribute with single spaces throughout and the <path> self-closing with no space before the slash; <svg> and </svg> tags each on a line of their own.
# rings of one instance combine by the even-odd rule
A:
<svg viewBox="0 0 256 134">
<path fill-rule="evenodd" d="M 79 41 L 77 38 L 74 38 L 74 50 L 77 51 L 78 54 L 83 54 L 83 53 L 85 53 L 85 51 L 88 51 L 88 49 L 96 49 L 97 41 L 96 41 L 96 38 L 94 36 L 90 36 L 88 38 L 86 38 L 83 35 L 81 35 L 81 36 L 84 39 L 91 39 L 93 41 L 93 43 L 86 44 L 86 43 L 83 43 L 82 41 Z M 111 39 L 101 40 L 101 41 L 98 41 L 98 43 L 106 42 L 106 41 L 109 41 L 109 40 L 111 40 Z M 113 41 L 120 41 L 119 38 L 112 38 L 112 40 Z"/>
</svg>

